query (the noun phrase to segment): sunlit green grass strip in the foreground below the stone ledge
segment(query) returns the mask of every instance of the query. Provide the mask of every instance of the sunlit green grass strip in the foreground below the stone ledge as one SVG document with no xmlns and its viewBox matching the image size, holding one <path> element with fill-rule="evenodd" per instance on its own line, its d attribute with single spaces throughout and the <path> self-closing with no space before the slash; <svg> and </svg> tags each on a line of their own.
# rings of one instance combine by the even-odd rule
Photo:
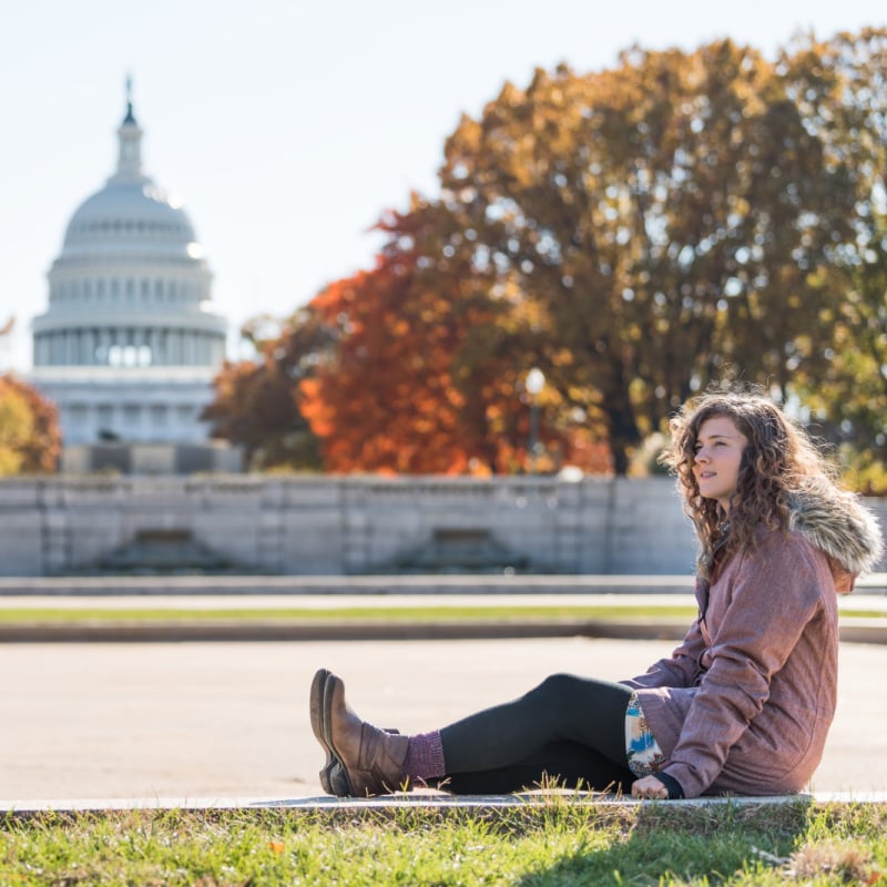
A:
<svg viewBox="0 0 887 887">
<path fill-rule="evenodd" d="M 0 884 L 874 885 L 887 805 L 137 812 L 0 820 Z"/>
</svg>

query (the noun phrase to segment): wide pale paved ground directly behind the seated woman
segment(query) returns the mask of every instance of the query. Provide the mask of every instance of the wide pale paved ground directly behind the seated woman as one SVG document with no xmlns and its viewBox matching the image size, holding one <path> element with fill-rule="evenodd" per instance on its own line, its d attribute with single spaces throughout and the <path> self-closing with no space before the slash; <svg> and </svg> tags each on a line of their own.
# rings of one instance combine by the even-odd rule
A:
<svg viewBox="0 0 887 887">
<path fill-rule="evenodd" d="M 554 671 L 619 679 L 671 642 L 588 638 L 289 643 L 3 644 L 0 809 L 297 804 L 320 794 L 312 674 L 357 711 L 421 731 Z M 845 643 L 840 703 L 813 788 L 887 792 L 887 645 Z"/>
</svg>

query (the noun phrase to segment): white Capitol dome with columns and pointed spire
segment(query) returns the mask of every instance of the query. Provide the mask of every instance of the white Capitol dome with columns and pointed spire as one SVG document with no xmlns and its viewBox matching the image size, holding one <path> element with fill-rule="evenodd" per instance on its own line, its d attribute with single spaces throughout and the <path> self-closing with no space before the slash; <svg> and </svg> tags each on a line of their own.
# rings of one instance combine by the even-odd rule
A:
<svg viewBox="0 0 887 887">
<path fill-rule="evenodd" d="M 177 201 L 142 172 L 128 102 L 118 167 L 77 208 L 49 272 L 49 309 L 32 323 L 34 365 L 217 368 L 227 324 Z"/>
</svg>

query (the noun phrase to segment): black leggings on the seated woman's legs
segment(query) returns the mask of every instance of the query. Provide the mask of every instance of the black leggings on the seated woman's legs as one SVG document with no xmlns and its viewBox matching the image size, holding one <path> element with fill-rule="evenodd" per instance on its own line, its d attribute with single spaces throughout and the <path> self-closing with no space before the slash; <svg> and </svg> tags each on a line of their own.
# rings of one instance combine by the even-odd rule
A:
<svg viewBox="0 0 887 887">
<path fill-rule="evenodd" d="M 622 684 L 553 674 L 526 695 L 440 731 L 447 777 L 457 794 L 503 794 L 539 785 L 628 792 Z"/>
</svg>

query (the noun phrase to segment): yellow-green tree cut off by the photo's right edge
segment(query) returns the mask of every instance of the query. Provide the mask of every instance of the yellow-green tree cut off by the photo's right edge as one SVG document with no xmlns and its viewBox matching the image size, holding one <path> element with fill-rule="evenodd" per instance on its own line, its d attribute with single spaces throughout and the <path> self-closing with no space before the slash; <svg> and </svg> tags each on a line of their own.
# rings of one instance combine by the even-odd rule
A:
<svg viewBox="0 0 887 887">
<path fill-rule="evenodd" d="M 825 359 L 818 373 L 799 373 L 795 387 L 858 488 L 885 493 L 887 30 L 828 41 L 799 38 L 779 63 L 807 126 L 824 144 L 826 162 L 845 170 L 854 192 L 849 227 L 835 232 L 830 261 L 814 278 L 833 335 L 809 341 Z"/>
</svg>

